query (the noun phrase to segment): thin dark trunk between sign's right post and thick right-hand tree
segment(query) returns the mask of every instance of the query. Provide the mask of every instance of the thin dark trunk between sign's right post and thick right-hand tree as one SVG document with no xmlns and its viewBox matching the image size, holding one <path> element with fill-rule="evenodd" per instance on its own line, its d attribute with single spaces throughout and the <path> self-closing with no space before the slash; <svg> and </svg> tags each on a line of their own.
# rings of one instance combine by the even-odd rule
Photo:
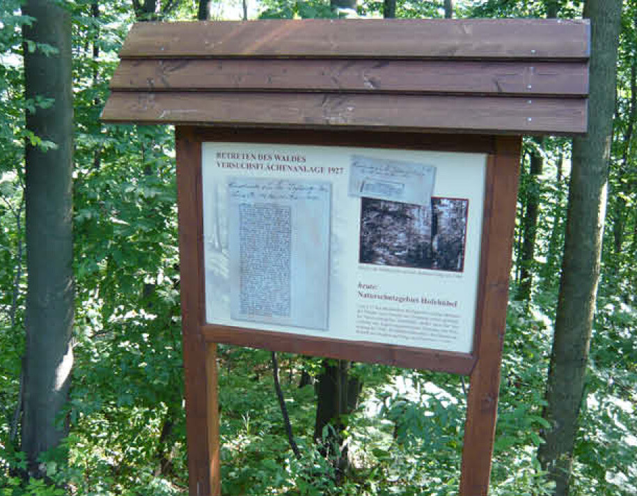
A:
<svg viewBox="0 0 637 496">
<path fill-rule="evenodd" d="M 515 299 L 528 302 L 533 286 L 533 262 L 535 261 L 535 238 L 537 233 L 537 215 L 540 207 L 540 182 L 537 176 L 542 173 L 542 155 L 534 151 L 530 156 L 530 170 L 526 184 L 526 212 L 522 219 L 522 247 L 520 253 L 520 284 Z"/>
</svg>

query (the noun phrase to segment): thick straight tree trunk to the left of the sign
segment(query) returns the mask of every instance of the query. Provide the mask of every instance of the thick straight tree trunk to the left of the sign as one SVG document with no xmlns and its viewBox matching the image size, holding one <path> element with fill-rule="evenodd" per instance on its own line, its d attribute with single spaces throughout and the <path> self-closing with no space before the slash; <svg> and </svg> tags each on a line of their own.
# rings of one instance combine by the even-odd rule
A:
<svg viewBox="0 0 637 496">
<path fill-rule="evenodd" d="M 26 357 L 22 449 L 29 472 L 42 476 L 38 456 L 66 433 L 58 418 L 68 399 L 73 363 L 71 17 L 56 1 L 29 0 L 24 15 L 26 98 L 51 98 L 48 109 L 27 112 L 26 127 L 56 144 L 26 146 Z M 29 42 L 58 50 L 45 55 Z"/>
</svg>

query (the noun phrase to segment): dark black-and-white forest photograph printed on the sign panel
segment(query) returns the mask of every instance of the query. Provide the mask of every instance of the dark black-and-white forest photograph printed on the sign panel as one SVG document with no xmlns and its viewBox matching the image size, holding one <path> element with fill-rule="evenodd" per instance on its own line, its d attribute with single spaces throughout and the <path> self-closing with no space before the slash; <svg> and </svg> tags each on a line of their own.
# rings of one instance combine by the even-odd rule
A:
<svg viewBox="0 0 637 496">
<path fill-rule="evenodd" d="M 463 272 L 467 199 L 430 205 L 361 199 L 359 262 Z"/>
</svg>

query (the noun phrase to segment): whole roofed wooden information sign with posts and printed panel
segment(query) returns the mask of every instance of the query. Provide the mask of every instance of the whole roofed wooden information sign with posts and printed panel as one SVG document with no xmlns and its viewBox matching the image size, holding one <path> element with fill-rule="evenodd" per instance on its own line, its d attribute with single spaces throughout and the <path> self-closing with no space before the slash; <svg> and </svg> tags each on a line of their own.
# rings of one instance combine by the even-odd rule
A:
<svg viewBox="0 0 637 496">
<path fill-rule="evenodd" d="M 471 375 L 460 494 L 487 494 L 520 134 L 585 132 L 588 38 L 563 20 L 134 26 L 103 118 L 178 125 L 191 495 L 221 492 L 216 343 Z"/>
</svg>

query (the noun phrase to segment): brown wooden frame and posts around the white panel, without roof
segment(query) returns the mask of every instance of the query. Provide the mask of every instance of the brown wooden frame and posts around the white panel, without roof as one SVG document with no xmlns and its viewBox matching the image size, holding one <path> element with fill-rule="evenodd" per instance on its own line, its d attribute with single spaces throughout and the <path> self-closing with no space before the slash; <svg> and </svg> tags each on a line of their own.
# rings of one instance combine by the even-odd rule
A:
<svg viewBox="0 0 637 496">
<path fill-rule="evenodd" d="M 191 495 L 219 494 L 221 487 L 215 343 L 233 343 L 276 351 L 301 352 L 306 355 L 470 374 L 471 389 L 463 451 L 461 494 L 486 494 L 491 470 L 516 211 L 519 137 L 382 132 L 282 132 L 180 126 L 176 130 L 176 138 Z M 205 324 L 201 184 L 201 144 L 204 141 L 329 143 L 333 146 L 373 145 L 399 149 L 487 153 L 480 291 L 475 313 L 473 352 L 440 352 Z"/>
</svg>

